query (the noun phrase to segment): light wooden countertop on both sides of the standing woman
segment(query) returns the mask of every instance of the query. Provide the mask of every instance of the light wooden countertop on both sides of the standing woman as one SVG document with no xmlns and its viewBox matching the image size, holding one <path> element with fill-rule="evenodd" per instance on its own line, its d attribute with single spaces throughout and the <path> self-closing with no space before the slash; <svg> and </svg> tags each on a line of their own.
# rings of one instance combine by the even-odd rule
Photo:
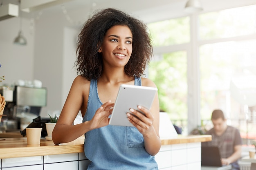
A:
<svg viewBox="0 0 256 170">
<path fill-rule="evenodd" d="M 175 139 L 163 139 L 162 145 L 184 144 L 211 141 L 211 135 L 178 135 Z M 41 139 L 40 146 L 28 146 L 27 138 L 6 138 L 0 140 L 0 159 L 14 157 L 31 157 L 41 155 L 58 155 L 84 152 L 84 137 L 60 145 Z"/>
</svg>

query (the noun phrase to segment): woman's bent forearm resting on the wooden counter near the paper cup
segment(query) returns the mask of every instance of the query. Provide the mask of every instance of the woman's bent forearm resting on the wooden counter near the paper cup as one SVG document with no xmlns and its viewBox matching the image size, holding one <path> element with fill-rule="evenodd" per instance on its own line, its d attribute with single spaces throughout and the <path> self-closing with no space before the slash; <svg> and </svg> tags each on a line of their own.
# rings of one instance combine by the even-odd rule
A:
<svg viewBox="0 0 256 170">
<path fill-rule="evenodd" d="M 88 132 L 90 130 L 88 127 L 88 122 L 77 125 L 56 124 L 52 132 L 52 140 L 56 145 L 74 141 Z"/>
</svg>

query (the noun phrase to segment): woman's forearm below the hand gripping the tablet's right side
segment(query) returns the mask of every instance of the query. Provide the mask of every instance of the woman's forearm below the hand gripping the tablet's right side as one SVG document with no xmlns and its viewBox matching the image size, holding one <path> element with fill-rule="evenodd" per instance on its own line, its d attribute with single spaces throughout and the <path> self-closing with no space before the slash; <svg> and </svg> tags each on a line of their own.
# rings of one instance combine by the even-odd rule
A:
<svg viewBox="0 0 256 170">
<path fill-rule="evenodd" d="M 146 151 L 150 155 L 155 156 L 161 148 L 161 139 L 157 136 L 156 132 L 153 132 L 148 136 L 144 135 L 144 145 Z"/>
</svg>

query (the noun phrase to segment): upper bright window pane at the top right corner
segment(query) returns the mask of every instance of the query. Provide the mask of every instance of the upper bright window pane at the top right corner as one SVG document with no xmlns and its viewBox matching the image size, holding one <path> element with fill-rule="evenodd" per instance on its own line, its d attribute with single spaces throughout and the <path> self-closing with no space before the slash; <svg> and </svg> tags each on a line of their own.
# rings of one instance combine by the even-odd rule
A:
<svg viewBox="0 0 256 170">
<path fill-rule="evenodd" d="M 204 13 L 199 16 L 200 40 L 256 33 L 256 5 Z"/>
</svg>

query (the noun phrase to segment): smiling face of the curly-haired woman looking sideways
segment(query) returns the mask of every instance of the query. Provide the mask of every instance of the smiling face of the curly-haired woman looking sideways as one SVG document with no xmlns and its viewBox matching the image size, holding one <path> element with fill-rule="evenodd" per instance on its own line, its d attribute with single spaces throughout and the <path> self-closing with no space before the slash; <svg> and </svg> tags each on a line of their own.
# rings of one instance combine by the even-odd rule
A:
<svg viewBox="0 0 256 170">
<path fill-rule="evenodd" d="M 107 32 L 99 48 L 106 66 L 124 67 L 132 54 L 132 32 L 128 26 L 115 25 Z"/>
</svg>

